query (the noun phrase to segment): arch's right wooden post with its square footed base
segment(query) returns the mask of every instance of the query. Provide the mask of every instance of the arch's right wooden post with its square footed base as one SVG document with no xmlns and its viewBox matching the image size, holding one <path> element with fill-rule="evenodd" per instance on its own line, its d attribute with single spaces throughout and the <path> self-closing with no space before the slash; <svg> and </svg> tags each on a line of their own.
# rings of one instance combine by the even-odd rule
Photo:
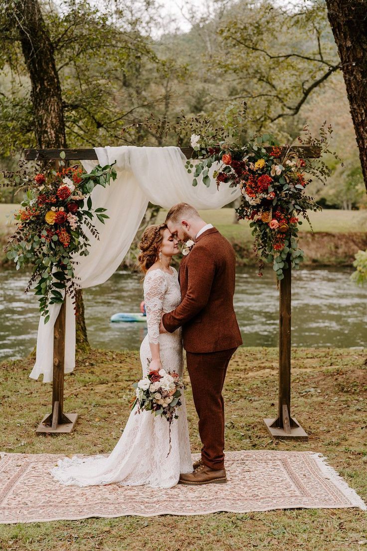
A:
<svg viewBox="0 0 367 551">
<path fill-rule="evenodd" d="M 287 257 L 288 268 L 279 285 L 279 398 L 278 417 L 264 419 L 270 436 L 275 439 L 308 440 L 308 435 L 291 417 L 291 256 Z"/>
</svg>

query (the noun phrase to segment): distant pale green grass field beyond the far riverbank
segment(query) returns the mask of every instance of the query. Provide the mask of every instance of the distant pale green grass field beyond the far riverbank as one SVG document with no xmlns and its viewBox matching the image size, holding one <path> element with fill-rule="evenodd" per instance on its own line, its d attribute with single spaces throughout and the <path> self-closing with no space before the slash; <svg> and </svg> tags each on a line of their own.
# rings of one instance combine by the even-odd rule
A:
<svg viewBox="0 0 367 551">
<path fill-rule="evenodd" d="M 11 219 L 12 211 L 19 208 L 18 204 L 0 204 L 0 233 L 10 233 L 11 226 L 7 222 Z M 158 223 L 164 222 L 167 210 L 162 209 L 158 215 Z M 234 209 L 222 208 L 217 210 L 200 210 L 206 222 L 211 223 L 229 240 L 249 239 L 251 236 L 249 223 L 241 220 L 234 224 Z M 9 217 L 10 215 L 10 217 Z M 367 210 L 323 210 L 311 213 L 310 220 L 314 231 L 330 233 L 346 233 L 348 231 L 367 231 Z M 302 231 L 310 231 L 308 222 L 304 221 Z"/>
</svg>

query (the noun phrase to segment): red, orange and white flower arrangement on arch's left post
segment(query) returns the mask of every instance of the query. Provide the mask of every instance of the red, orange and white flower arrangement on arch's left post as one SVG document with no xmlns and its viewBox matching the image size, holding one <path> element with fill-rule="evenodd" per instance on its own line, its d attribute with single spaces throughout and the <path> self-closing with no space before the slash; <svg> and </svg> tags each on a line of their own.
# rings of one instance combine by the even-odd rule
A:
<svg viewBox="0 0 367 551">
<path fill-rule="evenodd" d="M 64 157 L 62 152 L 61 159 Z M 92 220 L 97 217 L 104 224 L 108 218 L 105 208 L 92 209 L 90 194 L 95 186 L 106 187 L 111 178 L 116 179 L 112 165 L 97 165 L 90 174 L 80 165 L 66 168 L 63 160 L 59 165 L 59 170 L 50 170 L 49 166 L 42 170 L 39 165 L 34 175 L 25 168 L 4 172 L 10 185 L 26 190 L 26 199 L 14 215 L 17 230 L 9 237 L 7 257 L 15 262 L 17 270 L 33 264 L 25 292 L 36 282 L 34 290 L 40 297 L 45 323 L 50 319 L 48 305 L 64 301 L 62 291 L 72 296 L 75 304 L 73 256 L 89 255 L 86 229 L 99 239 Z"/>
</svg>

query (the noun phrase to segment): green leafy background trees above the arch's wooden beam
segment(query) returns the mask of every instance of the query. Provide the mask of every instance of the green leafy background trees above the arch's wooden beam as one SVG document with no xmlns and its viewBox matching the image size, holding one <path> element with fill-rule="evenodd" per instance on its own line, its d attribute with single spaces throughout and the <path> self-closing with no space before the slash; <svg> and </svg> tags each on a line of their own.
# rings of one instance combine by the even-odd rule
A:
<svg viewBox="0 0 367 551">
<path fill-rule="evenodd" d="M 4 6 L 0 9 L 4 31 L 0 154 L 6 157 L 14 148 L 19 152 L 32 147 L 35 137 L 19 29 L 10 2 Z M 337 123 L 342 116 L 348 121 L 339 129 L 337 150 L 344 159 L 346 144 L 353 149 L 348 171 L 342 170 L 339 160 L 328 159 L 335 179 L 326 191 L 315 182 L 312 192 L 333 204 L 338 195 L 345 197 L 338 201 L 343 208 L 363 206 L 363 182 L 357 175 L 346 176 L 359 167 L 348 102 L 332 110 L 346 93 L 324 1 L 290 8 L 268 0 L 216 0 L 207 13 L 189 11 L 188 33 L 167 32 L 154 0 L 67 0 L 59 6 L 41 3 L 62 85 L 69 147 L 189 145 L 190 135 L 199 133 L 206 120 L 219 128 L 226 109 L 235 106 L 238 114 L 243 101 L 251 117 L 237 128 L 242 145 L 264 129 L 281 143 L 291 143 L 305 118 L 311 128 L 319 128 L 325 118 Z M 160 31 L 163 34 L 157 38 Z M 317 102 L 322 121 L 317 118 Z M 327 106 L 331 111 L 324 115 Z M 231 112 L 227 114 L 230 122 Z M 174 126 L 167 128 L 168 120 L 190 115 L 198 117 L 196 128 L 180 124 L 178 132 Z M 145 119 L 150 126 L 140 124 Z M 220 135 L 224 136 L 222 130 Z M 233 142 L 235 137 L 228 139 Z M 5 166 L 10 161 L 2 162 Z M 3 200 L 8 196 L 3 193 Z"/>
</svg>

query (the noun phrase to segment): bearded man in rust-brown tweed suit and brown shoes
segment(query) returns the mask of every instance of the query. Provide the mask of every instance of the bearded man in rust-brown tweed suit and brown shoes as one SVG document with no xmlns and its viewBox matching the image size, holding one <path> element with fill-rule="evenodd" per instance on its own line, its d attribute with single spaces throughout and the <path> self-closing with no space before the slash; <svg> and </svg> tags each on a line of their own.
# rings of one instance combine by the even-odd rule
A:
<svg viewBox="0 0 367 551">
<path fill-rule="evenodd" d="M 166 218 L 171 234 L 194 244 L 179 268 L 181 302 L 163 314 L 161 332 L 182 326 L 183 346 L 202 442 L 194 471 L 181 484 L 227 482 L 224 469 L 222 388 L 229 360 L 242 344 L 233 309 L 235 256 L 232 245 L 187 203 L 173 206 Z M 190 243 L 189 243 L 190 245 Z"/>
</svg>

